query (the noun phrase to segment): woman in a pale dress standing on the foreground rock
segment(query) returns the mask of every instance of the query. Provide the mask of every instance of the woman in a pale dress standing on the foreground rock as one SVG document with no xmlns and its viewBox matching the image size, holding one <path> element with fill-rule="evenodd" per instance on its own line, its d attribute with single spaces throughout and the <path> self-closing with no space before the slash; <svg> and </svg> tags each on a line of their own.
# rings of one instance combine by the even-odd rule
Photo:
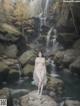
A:
<svg viewBox="0 0 80 106">
<path fill-rule="evenodd" d="M 47 83 L 45 58 L 42 57 L 42 53 L 39 52 L 38 57 L 35 60 L 35 68 L 33 73 L 33 79 L 38 86 L 38 94 L 42 95 L 43 87 Z"/>
</svg>

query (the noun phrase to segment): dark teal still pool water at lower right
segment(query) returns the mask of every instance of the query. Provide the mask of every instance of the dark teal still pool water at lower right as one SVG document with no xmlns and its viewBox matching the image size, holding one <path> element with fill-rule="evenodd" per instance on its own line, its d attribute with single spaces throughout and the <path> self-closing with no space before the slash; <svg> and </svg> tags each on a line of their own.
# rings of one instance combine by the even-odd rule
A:
<svg viewBox="0 0 80 106">
<path fill-rule="evenodd" d="M 64 99 L 80 100 L 80 77 L 69 72 L 59 72 L 60 78 L 64 81 Z"/>
</svg>

